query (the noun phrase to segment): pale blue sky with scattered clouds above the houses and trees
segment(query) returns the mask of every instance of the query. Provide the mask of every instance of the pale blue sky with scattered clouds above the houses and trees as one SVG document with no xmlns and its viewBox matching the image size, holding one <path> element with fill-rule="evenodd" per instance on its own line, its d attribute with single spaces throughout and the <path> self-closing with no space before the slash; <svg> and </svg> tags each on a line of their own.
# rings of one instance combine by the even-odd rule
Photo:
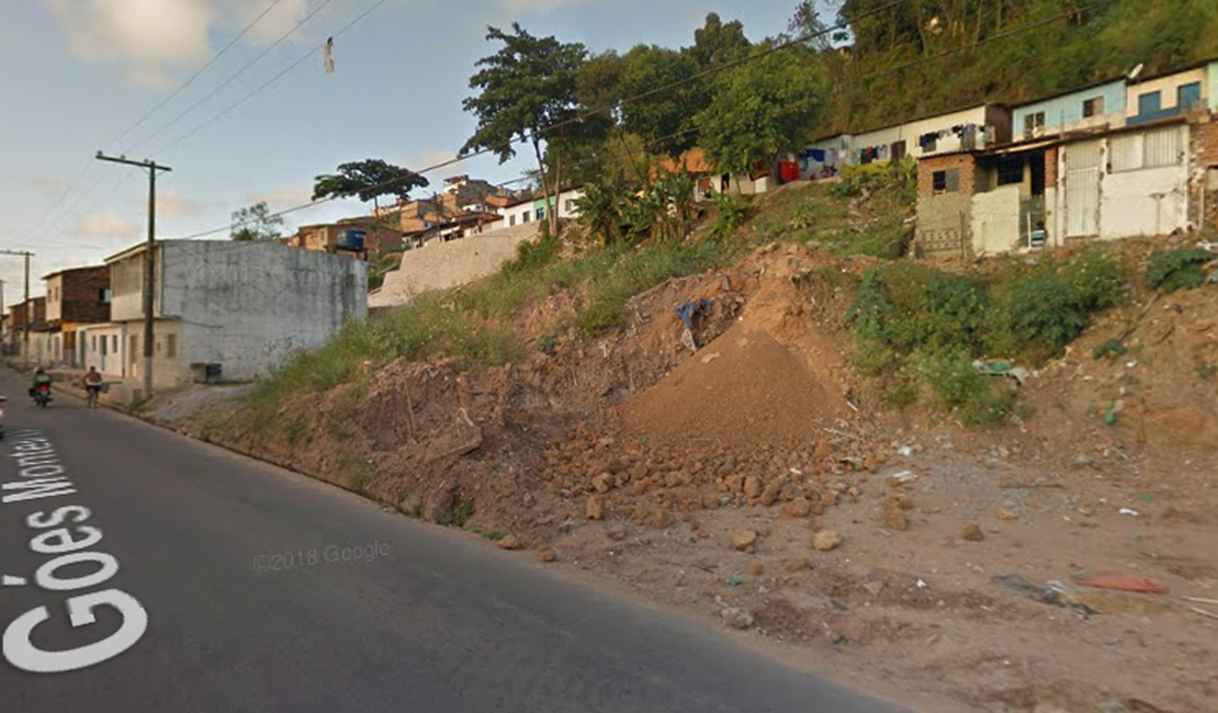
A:
<svg viewBox="0 0 1218 713">
<path fill-rule="evenodd" d="M 101 264 L 143 240 L 146 173 L 97 161 L 101 150 L 172 168 L 157 179 L 158 238 L 216 229 L 211 238 L 227 238 L 231 212 L 258 201 L 273 210 L 307 203 L 314 176 L 343 162 L 384 158 L 420 170 L 451 159 L 475 125 L 462 110 L 474 63 L 497 49 L 485 39 L 487 26 L 516 21 L 593 52 L 639 43 L 677 47 L 693 44 L 708 12 L 742 21 L 758 41 L 784 30 L 795 5 L 0 0 L 7 67 L 0 77 L 0 249 L 34 253 L 30 294 L 38 296 L 46 274 Z M 320 47 L 331 35 L 335 72 L 328 74 Z M 428 174 L 426 190 L 457 174 L 510 181 L 530 165 L 526 158 L 503 165 L 474 158 Z M 287 228 L 368 210 L 333 202 L 292 213 Z M 0 256 L 0 280 L 5 305 L 18 302 L 19 257 Z"/>
</svg>

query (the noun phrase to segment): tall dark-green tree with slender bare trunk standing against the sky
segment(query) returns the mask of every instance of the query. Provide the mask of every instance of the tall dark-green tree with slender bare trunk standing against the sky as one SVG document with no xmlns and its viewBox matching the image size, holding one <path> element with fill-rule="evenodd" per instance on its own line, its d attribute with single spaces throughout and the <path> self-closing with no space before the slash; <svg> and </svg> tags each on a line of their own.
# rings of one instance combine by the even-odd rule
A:
<svg viewBox="0 0 1218 713">
<path fill-rule="evenodd" d="M 503 46 L 479 60 L 480 69 L 469 80 L 470 89 L 479 94 L 466 99 L 463 106 L 477 117 L 477 129 L 460 155 L 487 150 L 499 157 L 499 163 L 505 163 L 516 155 L 515 141 L 531 144 L 548 204 L 551 190 L 541 142 L 543 137 L 549 140 L 543 136 L 549 127 L 577 116 L 575 77 L 588 52 L 577 43 L 533 37 L 520 23 L 513 23 L 512 30 L 508 34 L 487 28 L 487 41 Z M 557 232 L 558 210 L 547 213 Z"/>
</svg>

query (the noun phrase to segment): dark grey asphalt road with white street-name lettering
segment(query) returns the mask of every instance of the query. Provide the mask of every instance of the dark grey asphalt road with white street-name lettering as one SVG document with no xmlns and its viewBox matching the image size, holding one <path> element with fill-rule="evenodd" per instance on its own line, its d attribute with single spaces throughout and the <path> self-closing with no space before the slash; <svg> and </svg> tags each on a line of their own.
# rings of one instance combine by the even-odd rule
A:
<svg viewBox="0 0 1218 713">
<path fill-rule="evenodd" d="M 895 711 L 527 555 L 69 397 L 37 410 L 7 370 L 0 388 L 13 399 L 0 444 L 0 574 L 27 582 L 0 586 L 5 658 L 18 662 L 0 663 L 0 709 Z M 88 518 L 57 510 L 67 506 Z M 307 563 L 312 550 L 315 566 L 255 571 L 275 552 Z M 118 563 L 108 578 L 107 555 Z M 129 647 L 139 608 L 121 616 L 84 599 L 102 591 L 146 612 Z M 121 652 L 73 669 L 107 646 Z"/>
</svg>

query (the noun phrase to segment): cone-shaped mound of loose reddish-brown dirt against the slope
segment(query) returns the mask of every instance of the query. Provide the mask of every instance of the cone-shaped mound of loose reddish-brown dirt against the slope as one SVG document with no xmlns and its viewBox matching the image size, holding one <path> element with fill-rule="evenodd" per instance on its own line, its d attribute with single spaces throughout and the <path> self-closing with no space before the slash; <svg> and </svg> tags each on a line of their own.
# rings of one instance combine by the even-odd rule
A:
<svg viewBox="0 0 1218 713">
<path fill-rule="evenodd" d="M 639 434 L 691 445 L 806 443 L 840 397 L 803 355 L 769 332 L 737 325 L 622 410 Z"/>
</svg>

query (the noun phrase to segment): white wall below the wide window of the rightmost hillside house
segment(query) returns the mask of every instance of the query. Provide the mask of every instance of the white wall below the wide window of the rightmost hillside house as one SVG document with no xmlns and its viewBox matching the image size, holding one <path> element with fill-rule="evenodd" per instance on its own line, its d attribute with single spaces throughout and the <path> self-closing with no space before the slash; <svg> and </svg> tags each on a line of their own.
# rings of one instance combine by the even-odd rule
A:
<svg viewBox="0 0 1218 713">
<path fill-rule="evenodd" d="M 1188 224 L 1186 164 L 1145 168 L 1104 176 L 1100 186 L 1101 238 L 1167 235 L 1173 230 L 1186 228 Z"/>
</svg>

